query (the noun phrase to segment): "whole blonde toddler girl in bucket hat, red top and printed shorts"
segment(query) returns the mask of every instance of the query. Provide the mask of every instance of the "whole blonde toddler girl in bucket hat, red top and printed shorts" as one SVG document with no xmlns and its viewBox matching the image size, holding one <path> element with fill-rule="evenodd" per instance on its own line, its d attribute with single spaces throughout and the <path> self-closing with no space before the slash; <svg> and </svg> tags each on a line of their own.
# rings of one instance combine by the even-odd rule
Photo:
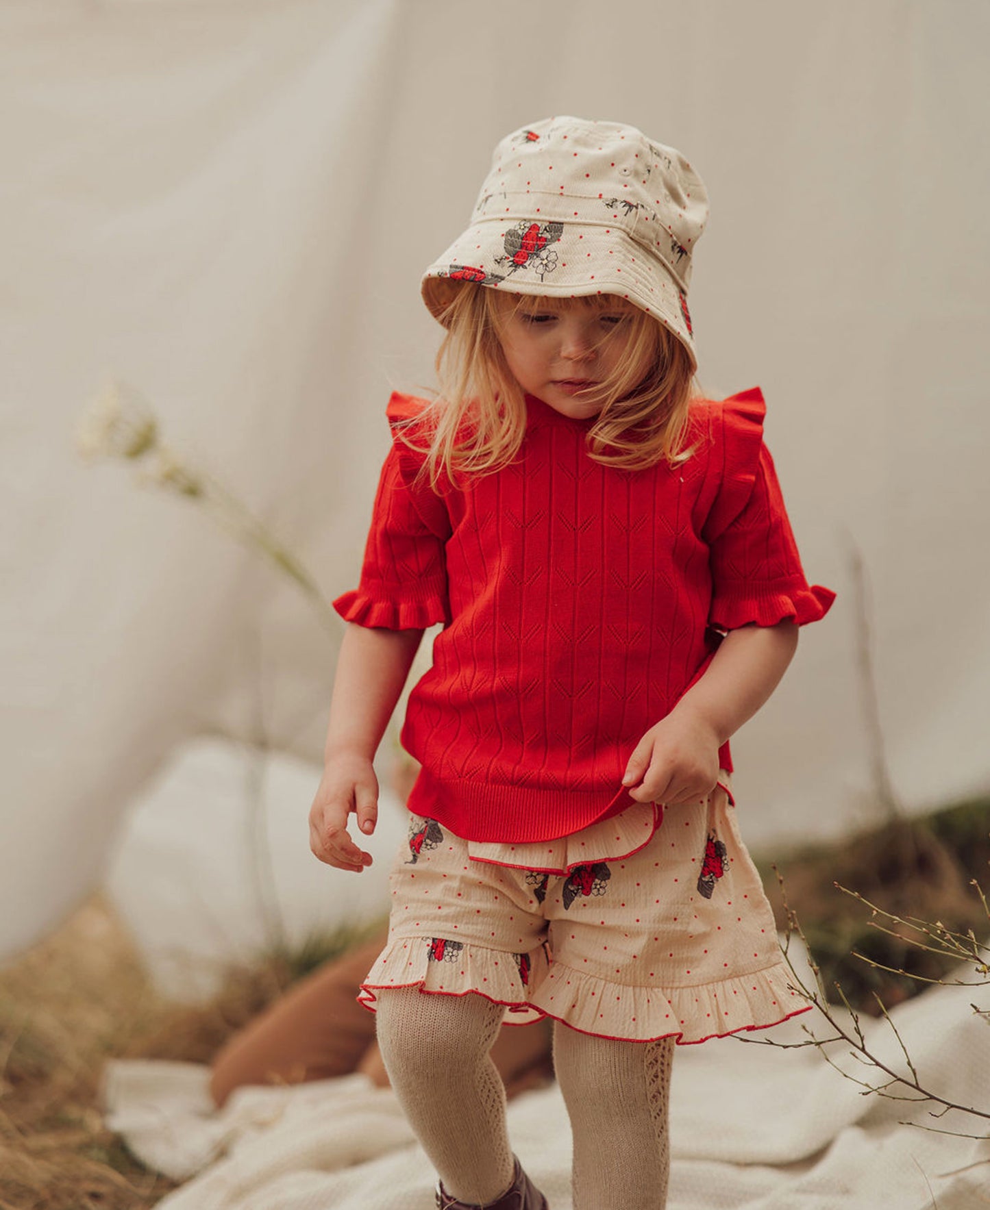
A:
<svg viewBox="0 0 990 1210">
<path fill-rule="evenodd" d="M 393 444 L 336 672 L 311 845 L 372 857 L 372 757 L 421 764 L 388 941 L 359 998 L 442 1208 L 537 1210 L 489 1058 L 554 1020 L 574 1206 L 666 1204 L 674 1044 L 773 1025 L 788 987 L 736 829 L 729 737 L 766 701 L 808 587 L 764 402 L 692 396 L 698 175 L 629 126 L 556 117 L 497 146 L 426 272 L 441 391 Z"/>
</svg>

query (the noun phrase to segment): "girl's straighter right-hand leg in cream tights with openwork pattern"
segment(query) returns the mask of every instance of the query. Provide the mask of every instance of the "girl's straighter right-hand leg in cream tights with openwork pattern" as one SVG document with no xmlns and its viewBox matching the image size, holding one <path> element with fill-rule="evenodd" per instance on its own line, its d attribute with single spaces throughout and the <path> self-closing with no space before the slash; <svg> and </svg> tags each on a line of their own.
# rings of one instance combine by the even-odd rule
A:
<svg viewBox="0 0 990 1210">
<path fill-rule="evenodd" d="M 553 1060 L 574 1134 L 574 1210 L 663 1210 L 674 1039 L 618 1042 L 557 1022 Z"/>
</svg>

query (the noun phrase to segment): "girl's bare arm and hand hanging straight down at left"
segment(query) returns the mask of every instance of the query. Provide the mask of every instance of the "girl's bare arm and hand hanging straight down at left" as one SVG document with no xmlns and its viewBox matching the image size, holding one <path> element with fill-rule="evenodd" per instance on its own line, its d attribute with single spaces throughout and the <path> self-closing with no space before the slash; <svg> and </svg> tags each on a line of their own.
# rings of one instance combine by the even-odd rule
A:
<svg viewBox="0 0 990 1210">
<path fill-rule="evenodd" d="M 347 832 L 357 814 L 366 835 L 378 820 L 372 765 L 396 708 L 422 630 L 386 630 L 349 623 L 336 662 L 323 777 L 310 808 L 310 848 L 328 865 L 359 874 L 372 864 Z"/>
</svg>

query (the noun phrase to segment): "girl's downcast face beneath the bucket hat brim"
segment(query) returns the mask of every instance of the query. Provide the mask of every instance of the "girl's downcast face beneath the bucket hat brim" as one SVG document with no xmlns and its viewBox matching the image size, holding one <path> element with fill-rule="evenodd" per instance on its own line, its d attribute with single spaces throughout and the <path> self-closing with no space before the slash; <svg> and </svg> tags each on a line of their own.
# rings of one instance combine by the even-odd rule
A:
<svg viewBox="0 0 990 1210">
<path fill-rule="evenodd" d="M 551 299 L 496 290 L 495 298 L 502 352 L 519 386 L 564 416 L 597 416 L 602 387 L 623 364 L 635 306 L 617 295 Z M 650 371 L 647 357 L 639 369 L 637 381 Z"/>
</svg>

